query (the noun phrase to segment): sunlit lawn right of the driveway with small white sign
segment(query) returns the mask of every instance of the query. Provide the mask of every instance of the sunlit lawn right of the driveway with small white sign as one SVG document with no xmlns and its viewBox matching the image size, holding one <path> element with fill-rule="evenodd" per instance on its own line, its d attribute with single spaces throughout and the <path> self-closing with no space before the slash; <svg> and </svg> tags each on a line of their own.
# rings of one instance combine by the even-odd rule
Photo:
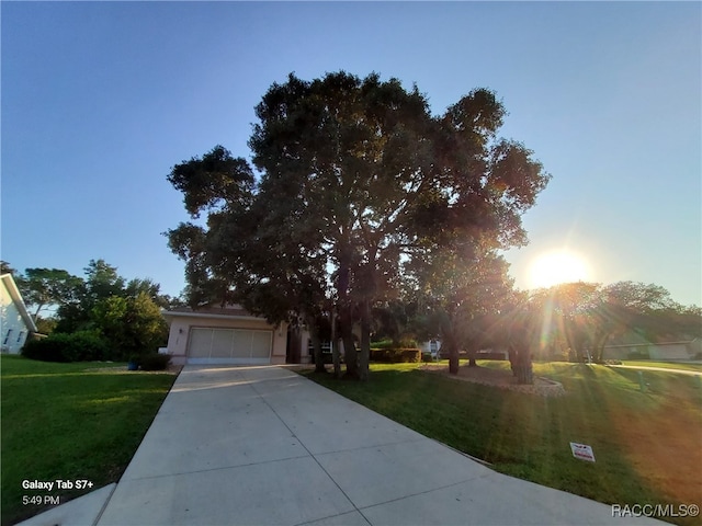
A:
<svg viewBox="0 0 702 526">
<path fill-rule="evenodd" d="M 417 364 L 373 365 L 367 384 L 305 374 L 510 476 L 608 504 L 702 503 L 702 390 L 694 377 L 647 371 L 649 388 L 641 392 L 635 369 L 567 363 L 534 369 L 562 382 L 567 395 L 503 391 Z M 592 446 L 597 461 L 574 458 L 570 442 Z"/>
</svg>

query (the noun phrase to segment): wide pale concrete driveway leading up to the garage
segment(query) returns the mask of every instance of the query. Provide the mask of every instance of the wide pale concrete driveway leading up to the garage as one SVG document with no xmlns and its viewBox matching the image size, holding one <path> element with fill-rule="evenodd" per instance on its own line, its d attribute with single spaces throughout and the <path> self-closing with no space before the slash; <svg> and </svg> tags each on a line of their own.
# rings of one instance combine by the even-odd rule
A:
<svg viewBox="0 0 702 526">
<path fill-rule="evenodd" d="M 497 473 L 283 367 L 186 366 L 97 524 L 661 523 Z"/>
</svg>

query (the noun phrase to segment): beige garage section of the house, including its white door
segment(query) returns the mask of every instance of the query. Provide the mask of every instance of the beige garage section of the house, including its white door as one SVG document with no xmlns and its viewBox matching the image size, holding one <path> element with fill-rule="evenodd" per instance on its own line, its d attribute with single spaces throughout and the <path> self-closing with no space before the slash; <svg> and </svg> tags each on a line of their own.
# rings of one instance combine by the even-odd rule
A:
<svg viewBox="0 0 702 526">
<path fill-rule="evenodd" d="M 287 323 L 271 325 L 238 305 L 163 311 L 173 364 L 279 365 L 290 362 Z"/>
</svg>

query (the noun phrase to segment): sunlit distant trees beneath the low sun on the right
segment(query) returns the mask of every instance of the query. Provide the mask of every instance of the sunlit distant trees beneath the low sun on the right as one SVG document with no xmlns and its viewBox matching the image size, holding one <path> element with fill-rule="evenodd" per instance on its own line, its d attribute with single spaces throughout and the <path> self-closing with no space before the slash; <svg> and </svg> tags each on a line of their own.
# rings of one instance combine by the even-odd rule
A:
<svg viewBox="0 0 702 526">
<path fill-rule="evenodd" d="M 469 268 L 480 275 L 476 262 Z M 454 339 L 468 366 L 480 350 L 507 350 L 523 367 L 532 358 L 602 363 L 605 345 L 702 338 L 702 309 L 676 302 L 658 285 L 578 282 L 525 291 L 513 288 L 503 261 L 491 268 L 489 278 L 451 281 L 453 297 L 435 290 L 377 305 L 374 338 L 398 345 Z"/>
</svg>

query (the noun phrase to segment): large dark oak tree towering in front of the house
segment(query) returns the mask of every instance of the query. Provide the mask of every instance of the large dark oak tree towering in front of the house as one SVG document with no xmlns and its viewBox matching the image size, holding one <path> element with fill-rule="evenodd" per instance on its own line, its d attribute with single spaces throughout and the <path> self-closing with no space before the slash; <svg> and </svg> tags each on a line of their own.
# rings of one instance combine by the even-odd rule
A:
<svg viewBox="0 0 702 526">
<path fill-rule="evenodd" d="M 524 242 L 521 214 L 548 181 L 530 150 L 497 138 L 505 108 L 486 89 L 432 115 L 397 79 L 290 75 L 256 114 L 258 184 L 219 146 L 173 167 L 188 211 L 207 219 L 168 231 L 169 245 L 193 305 L 237 299 L 282 321 L 330 301 L 350 376 L 367 376 L 372 308 L 396 294 L 404 265 Z"/>
</svg>

